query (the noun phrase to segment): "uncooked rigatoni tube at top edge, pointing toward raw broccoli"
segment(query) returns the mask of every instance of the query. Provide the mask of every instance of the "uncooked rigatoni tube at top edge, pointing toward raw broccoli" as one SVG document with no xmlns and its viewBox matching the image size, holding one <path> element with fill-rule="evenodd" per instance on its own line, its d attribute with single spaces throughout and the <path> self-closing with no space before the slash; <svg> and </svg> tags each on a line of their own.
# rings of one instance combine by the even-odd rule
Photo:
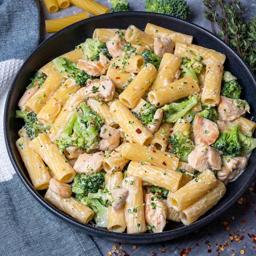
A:
<svg viewBox="0 0 256 256">
<path fill-rule="evenodd" d="M 70 0 L 70 2 L 93 15 L 109 13 L 109 8 L 92 0 Z"/>
</svg>

